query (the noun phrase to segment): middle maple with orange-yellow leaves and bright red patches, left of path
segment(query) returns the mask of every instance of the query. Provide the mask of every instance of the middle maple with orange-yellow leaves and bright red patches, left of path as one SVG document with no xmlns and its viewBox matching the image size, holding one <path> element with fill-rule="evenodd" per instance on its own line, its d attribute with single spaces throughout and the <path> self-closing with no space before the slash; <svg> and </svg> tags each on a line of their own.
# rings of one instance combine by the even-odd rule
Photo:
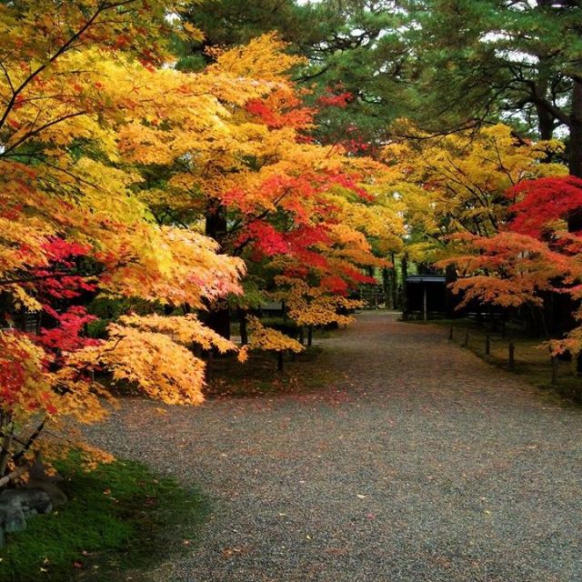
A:
<svg viewBox="0 0 582 582">
<path fill-rule="evenodd" d="M 300 325 L 318 325 L 337 319 L 341 301 L 332 297 L 375 282 L 363 268 L 386 261 L 370 240 L 386 253 L 399 245 L 402 221 L 386 196 L 386 166 L 310 137 L 315 110 L 303 105 L 302 92 L 287 75 L 301 61 L 284 49 L 275 35 L 264 35 L 246 47 L 215 52 L 206 75 L 236 75 L 239 87 L 252 81 L 262 95 L 240 89 L 231 95 L 221 88 L 216 96 L 232 112 L 225 120 L 226 141 L 191 152 L 169 176 L 166 196 L 148 199 L 156 216 L 167 220 L 187 222 L 204 214 L 206 234 L 245 260 L 264 299 L 275 293 L 291 306 L 296 293 L 280 286 L 277 276 L 307 280 L 329 300 L 309 307 L 308 317 L 300 314 L 306 302 L 293 304 L 290 314 Z M 248 296 L 236 304 L 247 306 Z"/>
</svg>

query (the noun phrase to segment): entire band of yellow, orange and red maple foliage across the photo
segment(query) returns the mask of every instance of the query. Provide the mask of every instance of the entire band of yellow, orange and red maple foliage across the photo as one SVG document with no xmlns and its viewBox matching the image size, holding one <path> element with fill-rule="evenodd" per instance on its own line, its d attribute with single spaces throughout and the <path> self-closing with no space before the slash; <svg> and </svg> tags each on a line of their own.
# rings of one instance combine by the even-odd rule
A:
<svg viewBox="0 0 582 582">
<path fill-rule="evenodd" d="M 337 133 L 362 95 L 297 85 L 306 59 L 275 33 L 176 66 L 176 42 L 204 38 L 192 10 L 0 4 L 0 476 L 62 454 L 113 386 L 197 405 L 201 355 L 300 351 L 253 310 L 347 324 L 387 256 L 454 271 L 461 305 L 582 296 L 582 181 L 559 142 L 406 119 L 382 143 Z M 214 325 L 225 312 L 246 346 Z M 578 329 L 554 345 L 581 348 Z"/>
</svg>

